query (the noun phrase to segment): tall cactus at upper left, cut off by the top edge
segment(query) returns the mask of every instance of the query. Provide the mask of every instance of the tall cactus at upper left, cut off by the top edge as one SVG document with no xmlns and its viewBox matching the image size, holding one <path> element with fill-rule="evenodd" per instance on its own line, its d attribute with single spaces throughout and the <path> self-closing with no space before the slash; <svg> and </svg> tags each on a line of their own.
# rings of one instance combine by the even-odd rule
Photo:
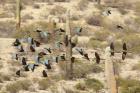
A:
<svg viewBox="0 0 140 93">
<path fill-rule="evenodd" d="M 16 0 L 16 30 L 20 31 L 21 25 L 21 0 Z"/>
</svg>

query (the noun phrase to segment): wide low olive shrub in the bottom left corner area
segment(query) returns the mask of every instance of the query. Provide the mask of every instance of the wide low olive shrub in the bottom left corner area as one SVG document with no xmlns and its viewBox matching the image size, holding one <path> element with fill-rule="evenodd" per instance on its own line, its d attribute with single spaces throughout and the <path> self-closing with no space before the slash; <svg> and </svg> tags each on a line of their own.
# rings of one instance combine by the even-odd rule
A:
<svg viewBox="0 0 140 93">
<path fill-rule="evenodd" d="M 20 90 L 29 90 L 30 86 L 31 86 L 31 81 L 24 79 L 8 84 L 6 86 L 6 90 L 9 93 L 18 93 Z"/>
</svg>

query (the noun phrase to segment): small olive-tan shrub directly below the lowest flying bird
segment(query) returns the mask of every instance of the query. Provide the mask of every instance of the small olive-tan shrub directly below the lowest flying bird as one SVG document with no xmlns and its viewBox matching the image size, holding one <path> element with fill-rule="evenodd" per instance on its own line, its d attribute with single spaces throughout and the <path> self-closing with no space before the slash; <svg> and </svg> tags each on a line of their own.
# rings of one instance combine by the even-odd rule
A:
<svg viewBox="0 0 140 93">
<path fill-rule="evenodd" d="M 50 79 L 41 79 L 38 82 L 39 85 L 39 89 L 40 90 L 46 90 L 47 88 L 49 88 L 52 85 L 52 81 Z"/>
</svg>

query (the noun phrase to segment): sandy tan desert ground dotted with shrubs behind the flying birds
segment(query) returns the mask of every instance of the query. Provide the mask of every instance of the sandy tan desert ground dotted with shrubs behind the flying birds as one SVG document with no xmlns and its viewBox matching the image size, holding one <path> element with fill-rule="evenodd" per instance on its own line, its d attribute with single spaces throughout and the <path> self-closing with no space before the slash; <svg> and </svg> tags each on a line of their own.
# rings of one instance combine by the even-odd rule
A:
<svg viewBox="0 0 140 93">
<path fill-rule="evenodd" d="M 140 93 L 140 0 L 97 1 L 21 0 L 21 27 L 17 31 L 16 0 L 0 0 L 0 93 Z M 64 44 L 68 10 L 72 40 L 77 40 L 72 48 L 73 69 L 67 56 L 58 62 L 53 60 L 68 53 Z M 82 31 L 77 34 L 78 28 Z M 37 30 L 51 35 L 42 39 Z M 53 34 L 54 30 L 58 32 Z M 29 42 L 22 41 L 29 37 L 40 42 L 34 52 Z M 16 39 L 24 52 L 13 45 Z M 58 41 L 62 43 L 59 49 L 55 45 Z M 110 56 L 111 44 L 114 56 Z M 88 58 L 77 49 L 82 49 Z M 35 63 L 40 52 L 51 59 L 51 69 L 44 63 Z M 99 63 L 95 53 L 100 56 Z M 28 65 L 38 65 L 34 71 L 25 71 L 23 57 Z"/>
</svg>

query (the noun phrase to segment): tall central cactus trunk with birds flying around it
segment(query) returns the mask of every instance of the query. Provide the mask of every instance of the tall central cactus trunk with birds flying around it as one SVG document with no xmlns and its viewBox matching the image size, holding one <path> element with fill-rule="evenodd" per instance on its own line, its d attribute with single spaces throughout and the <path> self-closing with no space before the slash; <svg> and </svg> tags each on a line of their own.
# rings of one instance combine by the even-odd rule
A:
<svg viewBox="0 0 140 93">
<path fill-rule="evenodd" d="M 70 27 L 70 10 L 67 11 L 66 17 L 66 37 L 68 37 L 68 45 L 66 46 L 66 73 L 70 79 L 73 78 L 73 62 L 72 62 L 72 45 L 71 45 L 71 27 Z M 68 70 L 68 64 L 70 69 Z"/>
</svg>

